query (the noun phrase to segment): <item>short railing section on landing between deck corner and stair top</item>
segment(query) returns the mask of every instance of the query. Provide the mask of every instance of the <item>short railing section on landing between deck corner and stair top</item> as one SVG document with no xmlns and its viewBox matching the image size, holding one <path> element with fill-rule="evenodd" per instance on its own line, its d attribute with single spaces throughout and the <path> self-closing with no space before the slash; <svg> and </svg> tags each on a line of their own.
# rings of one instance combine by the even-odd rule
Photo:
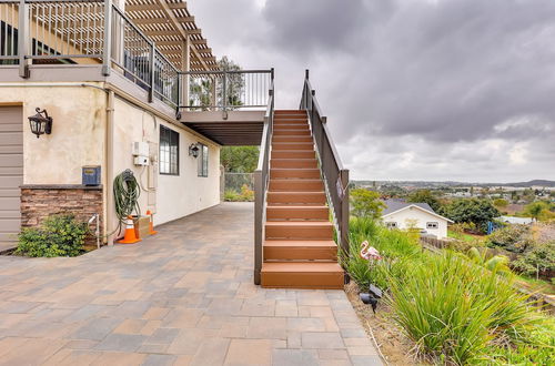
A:
<svg viewBox="0 0 555 366">
<path fill-rule="evenodd" d="M 180 109 L 262 109 L 269 103 L 271 70 L 180 72 L 183 98 Z"/>
</svg>

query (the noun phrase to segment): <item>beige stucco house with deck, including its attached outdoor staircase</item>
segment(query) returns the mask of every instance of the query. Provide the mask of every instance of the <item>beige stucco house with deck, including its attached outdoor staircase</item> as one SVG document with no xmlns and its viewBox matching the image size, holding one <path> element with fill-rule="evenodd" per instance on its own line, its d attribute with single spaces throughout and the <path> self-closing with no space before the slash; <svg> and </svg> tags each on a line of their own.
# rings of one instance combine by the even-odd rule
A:
<svg viewBox="0 0 555 366">
<path fill-rule="evenodd" d="M 221 146 L 260 145 L 254 283 L 342 288 L 349 171 L 309 72 L 294 109 L 273 88 L 220 70 L 182 0 L 0 1 L 0 243 L 69 212 L 111 245 L 122 176 L 160 225 L 220 203 Z"/>
</svg>

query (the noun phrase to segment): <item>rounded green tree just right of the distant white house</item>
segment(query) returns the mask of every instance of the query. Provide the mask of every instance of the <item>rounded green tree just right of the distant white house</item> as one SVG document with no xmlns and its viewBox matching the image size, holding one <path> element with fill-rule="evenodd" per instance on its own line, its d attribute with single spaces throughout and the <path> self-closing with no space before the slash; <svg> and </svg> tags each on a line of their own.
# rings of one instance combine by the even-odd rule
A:
<svg viewBox="0 0 555 366">
<path fill-rule="evenodd" d="M 474 223 L 485 232 L 488 221 L 501 215 L 490 200 L 460 199 L 442 207 L 442 213 L 456 223 Z"/>
</svg>

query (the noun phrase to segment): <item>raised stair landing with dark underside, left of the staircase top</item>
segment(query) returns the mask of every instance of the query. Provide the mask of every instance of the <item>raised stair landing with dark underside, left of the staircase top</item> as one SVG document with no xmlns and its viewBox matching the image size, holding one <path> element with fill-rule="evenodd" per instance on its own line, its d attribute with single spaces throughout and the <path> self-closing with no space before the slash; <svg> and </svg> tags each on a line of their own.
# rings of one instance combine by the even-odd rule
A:
<svg viewBox="0 0 555 366">
<path fill-rule="evenodd" d="M 264 113 L 264 111 L 182 112 L 181 123 L 224 146 L 259 146 L 262 141 Z"/>
</svg>

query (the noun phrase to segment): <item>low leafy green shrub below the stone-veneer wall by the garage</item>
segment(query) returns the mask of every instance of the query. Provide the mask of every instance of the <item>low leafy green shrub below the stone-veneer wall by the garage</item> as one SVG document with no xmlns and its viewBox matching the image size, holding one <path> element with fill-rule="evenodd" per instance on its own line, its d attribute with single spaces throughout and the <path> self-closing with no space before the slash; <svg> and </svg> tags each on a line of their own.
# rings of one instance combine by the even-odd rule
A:
<svg viewBox="0 0 555 366">
<path fill-rule="evenodd" d="M 41 227 L 23 228 L 17 253 L 32 257 L 77 256 L 83 252 L 87 224 L 73 215 L 52 215 Z"/>
</svg>

